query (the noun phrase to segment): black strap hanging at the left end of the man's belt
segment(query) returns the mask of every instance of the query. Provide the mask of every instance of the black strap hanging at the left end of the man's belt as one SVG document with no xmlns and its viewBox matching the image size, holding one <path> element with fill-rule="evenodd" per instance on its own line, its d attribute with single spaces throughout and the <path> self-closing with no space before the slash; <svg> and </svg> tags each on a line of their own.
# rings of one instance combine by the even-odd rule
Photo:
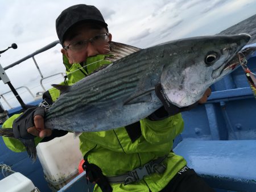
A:
<svg viewBox="0 0 256 192">
<path fill-rule="evenodd" d="M 87 179 L 93 183 L 96 182 L 103 192 L 112 192 L 112 186 L 109 184 L 108 179 L 102 174 L 101 168 L 95 164 L 90 164 L 88 160 L 84 161 L 82 168 L 86 171 Z"/>
</svg>

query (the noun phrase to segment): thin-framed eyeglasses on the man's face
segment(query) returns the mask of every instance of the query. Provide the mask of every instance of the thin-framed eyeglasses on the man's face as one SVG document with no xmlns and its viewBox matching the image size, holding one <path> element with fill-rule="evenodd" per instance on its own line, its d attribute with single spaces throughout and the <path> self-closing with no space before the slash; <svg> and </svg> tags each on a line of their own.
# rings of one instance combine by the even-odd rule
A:
<svg viewBox="0 0 256 192">
<path fill-rule="evenodd" d="M 80 51 L 88 45 L 88 42 L 90 42 L 94 45 L 101 45 L 108 41 L 109 41 L 109 34 L 102 33 L 102 34 L 98 34 L 90 39 L 76 41 L 74 43 L 68 44 L 67 46 L 64 47 L 64 49 L 66 49 L 66 50 L 70 49 L 72 51 Z"/>
</svg>

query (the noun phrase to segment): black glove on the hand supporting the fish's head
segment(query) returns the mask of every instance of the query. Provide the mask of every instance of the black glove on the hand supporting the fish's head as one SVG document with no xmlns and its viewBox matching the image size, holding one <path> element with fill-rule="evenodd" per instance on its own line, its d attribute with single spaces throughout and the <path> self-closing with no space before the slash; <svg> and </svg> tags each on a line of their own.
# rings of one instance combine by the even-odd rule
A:
<svg viewBox="0 0 256 192">
<path fill-rule="evenodd" d="M 177 107 L 173 105 L 167 100 L 166 95 L 164 95 L 161 84 L 155 86 L 155 94 L 163 103 L 163 106 L 147 117 L 150 120 L 162 120 L 168 118 L 168 116 L 176 115 L 179 112 L 191 110 L 198 104 L 198 102 L 196 102 L 187 107 Z"/>
</svg>

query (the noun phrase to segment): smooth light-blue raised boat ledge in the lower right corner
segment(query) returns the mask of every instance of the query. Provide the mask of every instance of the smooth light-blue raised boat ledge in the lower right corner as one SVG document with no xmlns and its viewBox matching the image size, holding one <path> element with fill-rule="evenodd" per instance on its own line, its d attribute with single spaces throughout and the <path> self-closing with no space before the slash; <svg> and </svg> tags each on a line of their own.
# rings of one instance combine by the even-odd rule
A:
<svg viewBox="0 0 256 192">
<path fill-rule="evenodd" d="M 255 191 L 256 140 L 181 141 L 174 152 L 210 186 L 236 191 Z"/>
</svg>

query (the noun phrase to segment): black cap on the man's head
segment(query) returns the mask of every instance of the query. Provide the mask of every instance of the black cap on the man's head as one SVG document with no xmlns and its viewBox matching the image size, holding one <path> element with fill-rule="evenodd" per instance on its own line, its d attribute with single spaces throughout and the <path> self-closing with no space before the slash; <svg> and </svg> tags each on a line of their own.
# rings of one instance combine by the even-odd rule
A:
<svg viewBox="0 0 256 192">
<path fill-rule="evenodd" d="M 67 30 L 82 20 L 92 20 L 96 21 L 104 27 L 108 27 L 108 24 L 105 23 L 103 16 L 101 15 L 100 10 L 92 5 L 74 5 L 68 7 L 56 19 L 56 32 L 59 37 L 60 43 L 63 44 L 63 36 Z"/>
</svg>

